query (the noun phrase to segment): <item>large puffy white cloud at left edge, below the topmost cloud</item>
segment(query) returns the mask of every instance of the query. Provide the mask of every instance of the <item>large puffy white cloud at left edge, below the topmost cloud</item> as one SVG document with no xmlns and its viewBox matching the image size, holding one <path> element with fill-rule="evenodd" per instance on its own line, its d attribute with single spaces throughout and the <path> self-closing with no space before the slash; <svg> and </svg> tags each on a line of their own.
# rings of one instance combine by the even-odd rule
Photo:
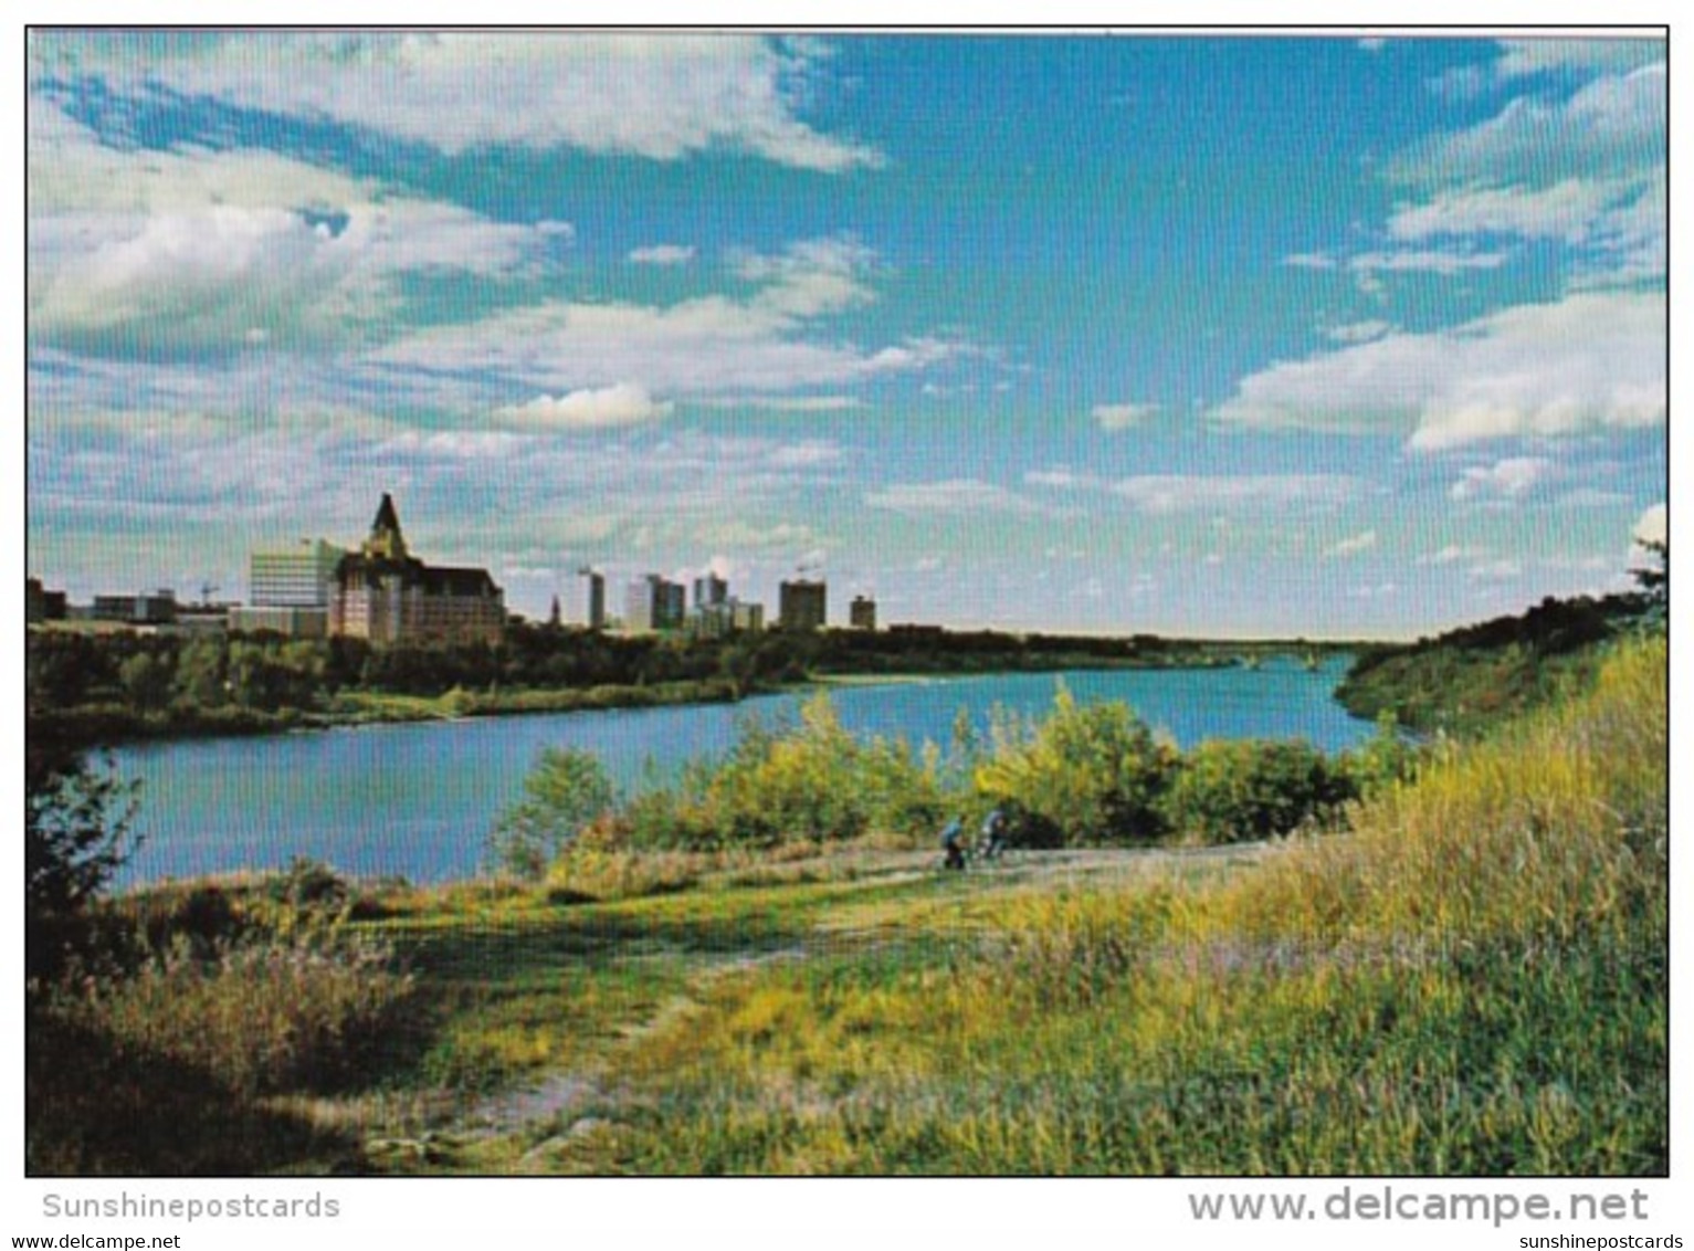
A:
<svg viewBox="0 0 1694 1251">
<path fill-rule="evenodd" d="M 510 225 L 263 153 L 119 153 L 30 110 L 30 331 L 171 359 L 347 348 L 403 273 L 517 275 L 562 222 Z"/>
</svg>

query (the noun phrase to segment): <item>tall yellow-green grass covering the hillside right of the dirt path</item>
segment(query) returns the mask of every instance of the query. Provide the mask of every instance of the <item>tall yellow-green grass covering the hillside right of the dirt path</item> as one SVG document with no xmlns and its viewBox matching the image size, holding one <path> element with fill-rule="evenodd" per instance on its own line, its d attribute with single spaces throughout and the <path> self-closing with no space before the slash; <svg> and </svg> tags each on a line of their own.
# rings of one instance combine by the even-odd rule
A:
<svg viewBox="0 0 1694 1251">
<path fill-rule="evenodd" d="M 647 1171 L 1653 1175 L 1662 641 L 1262 868 L 1008 900 L 922 968 L 720 985 L 632 1061 Z"/>
</svg>

